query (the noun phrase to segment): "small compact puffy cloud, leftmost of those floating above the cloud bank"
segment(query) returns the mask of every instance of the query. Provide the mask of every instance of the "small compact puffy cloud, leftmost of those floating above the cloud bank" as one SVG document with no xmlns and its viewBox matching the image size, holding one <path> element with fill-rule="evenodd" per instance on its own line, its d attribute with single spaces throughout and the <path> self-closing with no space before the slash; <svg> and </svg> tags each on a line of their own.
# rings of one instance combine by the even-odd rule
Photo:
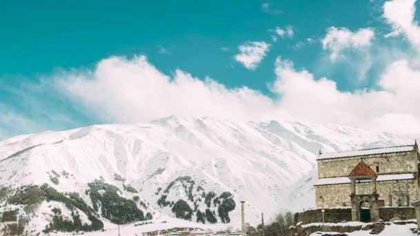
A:
<svg viewBox="0 0 420 236">
<path fill-rule="evenodd" d="M 239 54 L 235 60 L 242 63 L 245 68 L 255 70 L 261 60 L 267 55 L 270 45 L 264 41 L 250 41 L 238 47 Z"/>
</svg>

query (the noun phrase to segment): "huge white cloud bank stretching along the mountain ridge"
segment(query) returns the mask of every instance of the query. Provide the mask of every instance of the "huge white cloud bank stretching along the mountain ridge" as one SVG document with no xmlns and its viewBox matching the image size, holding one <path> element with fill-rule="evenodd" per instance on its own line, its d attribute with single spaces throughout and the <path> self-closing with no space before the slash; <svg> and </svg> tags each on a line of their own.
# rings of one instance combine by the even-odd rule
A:
<svg viewBox="0 0 420 236">
<path fill-rule="evenodd" d="M 389 132 L 420 132 L 420 71 L 394 61 L 379 79 L 379 90 L 342 92 L 327 78 L 316 79 L 277 59 L 270 98 L 250 88 L 225 88 L 177 70 L 168 77 L 146 57 L 111 57 L 91 72 L 57 77 L 61 92 L 109 122 L 138 122 L 170 115 L 239 121 L 290 119 L 345 124 Z"/>
</svg>

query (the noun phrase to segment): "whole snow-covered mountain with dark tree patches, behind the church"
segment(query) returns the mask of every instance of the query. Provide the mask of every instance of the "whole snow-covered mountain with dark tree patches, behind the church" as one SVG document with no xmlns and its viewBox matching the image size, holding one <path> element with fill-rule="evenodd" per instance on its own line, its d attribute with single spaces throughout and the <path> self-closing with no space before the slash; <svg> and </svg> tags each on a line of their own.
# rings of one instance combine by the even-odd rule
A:
<svg viewBox="0 0 420 236">
<path fill-rule="evenodd" d="M 70 220 L 79 215 L 86 225 L 93 224 L 94 216 L 116 223 L 118 209 L 107 205 L 115 199 L 129 206 L 131 218 L 121 224 L 169 215 L 238 226 L 241 200 L 246 201 L 247 222 L 256 224 L 262 212 L 271 217 L 280 210 L 314 206 L 319 150 L 413 142 L 412 137 L 338 125 L 184 117 L 48 131 L 0 141 L 0 185 L 5 189 L 0 199 L 9 203 L 3 210 L 30 215 L 21 199 L 37 190 L 28 186 L 41 186 L 49 201 L 38 202 L 28 219 L 38 231 L 60 215 Z M 49 195 L 53 190 L 57 193 Z M 86 206 L 77 204 L 82 201 Z"/>
</svg>

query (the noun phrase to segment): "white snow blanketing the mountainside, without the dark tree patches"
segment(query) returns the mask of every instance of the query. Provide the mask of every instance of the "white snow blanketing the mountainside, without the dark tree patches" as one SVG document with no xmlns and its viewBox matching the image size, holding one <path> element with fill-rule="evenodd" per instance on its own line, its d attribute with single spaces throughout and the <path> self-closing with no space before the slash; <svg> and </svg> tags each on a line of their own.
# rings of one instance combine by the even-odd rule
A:
<svg viewBox="0 0 420 236">
<path fill-rule="evenodd" d="M 177 177 L 190 176 L 207 192 L 233 193 L 237 205 L 230 215 L 232 226 L 240 225 L 239 202 L 245 199 L 246 221 L 255 225 L 261 212 L 272 219 L 282 210 L 315 206 L 318 150 L 401 146 L 413 140 L 333 124 L 168 117 L 144 124 L 89 126 L 0 141 L 0 185 L 16 188 L 48 183 L 63 193 L 79 193 L 91 205 L 84 193 L 87 184 L 103 177 L 122 189 L 121 181 L 114 179 L 117 173 L 139 191 L 156 214 L 173 216 L 171 210 L 157 206 L 160 196 L 155 191 Z M 52 170 L 61 175 L 58 185 L 50 181 Z M 170 194 L 186 197 L 182 191 Z M 40 208 L 39 212 L 50 210 Z"/>
</svg>

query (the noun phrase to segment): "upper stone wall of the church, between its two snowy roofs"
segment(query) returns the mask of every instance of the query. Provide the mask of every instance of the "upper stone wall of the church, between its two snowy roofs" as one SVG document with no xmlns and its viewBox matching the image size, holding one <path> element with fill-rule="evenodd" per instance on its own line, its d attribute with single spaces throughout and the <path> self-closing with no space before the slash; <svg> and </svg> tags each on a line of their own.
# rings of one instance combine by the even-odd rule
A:
<svg viewBox="0 0 420 236">
<path fill-rule="evenodd" d="M 379 173 L 382 175 L 417 173 L 417 154 L 415 151 L 365 155 L 363 158 L 363 161 L 372 170 L 376 171 L 376 166 L 379 166 Z M 361 157 L 318 160 L 318 176 L 319 178 L 348 176 L 360 161 Z"/>
</svg>

